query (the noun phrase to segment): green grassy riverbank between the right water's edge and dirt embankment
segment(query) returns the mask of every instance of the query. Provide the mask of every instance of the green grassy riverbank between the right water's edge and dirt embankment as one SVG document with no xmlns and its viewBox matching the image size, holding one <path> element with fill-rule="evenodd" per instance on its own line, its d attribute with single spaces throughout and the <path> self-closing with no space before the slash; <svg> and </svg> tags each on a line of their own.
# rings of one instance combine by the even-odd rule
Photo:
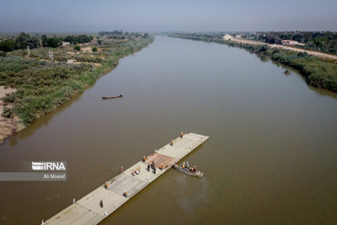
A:
<svg viewBox="0 0 337 225">
<path fill-rule="evenodd" d="M 169 34 L 168 36 L 207 42 L 212 41 L 233 47 L 242 47 L 250 52 L 266 55 L 275 61 L 298 69 L 309 85 L 337 92 L 337 64 L 331 59 L 310 56 L 306 52 L 296 52 L 275 47 L 270 48 L 267 45 L 224 40 L 220 35 L 216 34 L 177 33 Z"/>
</svg>

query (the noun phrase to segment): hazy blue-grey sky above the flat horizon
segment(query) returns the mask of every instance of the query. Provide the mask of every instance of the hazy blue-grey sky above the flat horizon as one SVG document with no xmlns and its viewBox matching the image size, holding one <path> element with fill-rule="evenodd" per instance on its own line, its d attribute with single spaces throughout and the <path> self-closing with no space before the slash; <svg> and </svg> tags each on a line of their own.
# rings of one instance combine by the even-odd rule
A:
<svg viewBox="0 0 337 225">
<path fill-rule="evenodd" d="M 0 31 L 337 31 L 337 0 L 0 0 Z"/>
</svg>

